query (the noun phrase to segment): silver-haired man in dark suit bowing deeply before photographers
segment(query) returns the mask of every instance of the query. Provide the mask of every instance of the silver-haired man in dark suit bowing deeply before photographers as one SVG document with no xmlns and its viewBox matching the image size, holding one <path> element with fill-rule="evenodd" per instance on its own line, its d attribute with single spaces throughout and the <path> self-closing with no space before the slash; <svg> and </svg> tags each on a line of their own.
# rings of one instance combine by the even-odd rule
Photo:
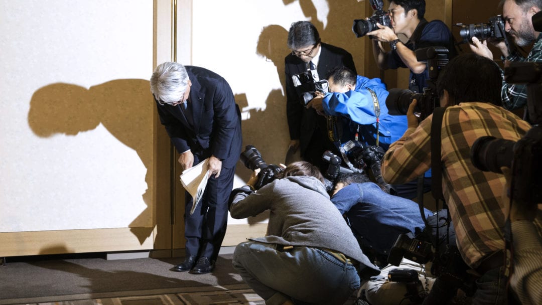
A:
<svg viewBox="0 0 542 305">
<path fill-rule="evenodd" d="M 151 76 L 151 92 L 182 170 L 209 158 L 210 178 L 192 215 L 192 197 L 185 193 L 186 257 L 172 269 L 205 274 L 214 269 L 226 231 L 241 154 L 241 113 L 228 82 L 200 67 L 160 64 Z"/>
</svg>

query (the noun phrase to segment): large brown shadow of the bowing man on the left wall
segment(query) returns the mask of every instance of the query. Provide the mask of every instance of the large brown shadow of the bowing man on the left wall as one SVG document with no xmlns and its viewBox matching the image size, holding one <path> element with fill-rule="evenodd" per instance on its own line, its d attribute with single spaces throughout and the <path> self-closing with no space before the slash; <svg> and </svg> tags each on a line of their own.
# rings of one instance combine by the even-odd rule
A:
<svg viewBox="0 0 542 305">
<path fill-rule="evenodd" d="M 28 113 L 28 124 L 38 137 L 58 133 L 76 135 L 101 123 L 115 138 L 137 152 L 147 168 L 147 190 L 143 194 L 147 207 L 129 226 L 149 227 L 146 236 L 137 235 L 141 244 L 152 232 L 149 168 L 152 168 L 153 106 L 149 81 L 126 79 L 89 89 L 68 83 L 42 87 L 32 96 Z"/>
</svg>

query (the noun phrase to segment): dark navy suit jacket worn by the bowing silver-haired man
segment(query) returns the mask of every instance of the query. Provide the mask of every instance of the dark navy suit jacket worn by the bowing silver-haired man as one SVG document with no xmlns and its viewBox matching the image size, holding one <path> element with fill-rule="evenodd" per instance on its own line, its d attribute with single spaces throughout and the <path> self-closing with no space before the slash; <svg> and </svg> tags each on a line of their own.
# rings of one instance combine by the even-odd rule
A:
<svg viewBox="0 0 542 305">
<path fill-rule="evenodd" d="M 214 155 L 222 166 L 233 167 L 241 154 L 241 113 L 228 82 L 205 68 L 185 66 L 192 82 L 189 103 L 193 126 L 182 105 L 160 105 L 160 122 L 179 153 L 191 150 L 202 161 Z"/>
</svg>

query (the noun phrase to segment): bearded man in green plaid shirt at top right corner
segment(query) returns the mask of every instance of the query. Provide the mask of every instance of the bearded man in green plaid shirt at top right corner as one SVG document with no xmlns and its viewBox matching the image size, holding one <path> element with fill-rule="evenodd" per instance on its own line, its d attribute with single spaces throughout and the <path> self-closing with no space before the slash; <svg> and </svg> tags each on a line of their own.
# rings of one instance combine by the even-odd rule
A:
<svg viewBox="0 0 542 305">
<path fill-rule="evenodd" d="M 532 16 L 542 9 L 542 0 L 501 0 L 502 18 L 505 21 L 505 31 L 514 38 L 520 47 L 526 47 L 532 42 L 534 46 L 527 57 L 517 50 L 508 50 L 504 41 L 494 42 L 495 47 L 502 52 L 502 61 L 542 62 L 542 35 L 533 27 Z M 480 42 L 472 38 L 470 49 L 481 56 L 493 60 L 493 53 L 487 47 L 487 41 Z M 506 109 L 513 110 L 527 105 L 527 86 L 506 83 L 502 75 L 501 99 Z M 525 115 L 524 118 L 527 118 Z"/>
</svg>

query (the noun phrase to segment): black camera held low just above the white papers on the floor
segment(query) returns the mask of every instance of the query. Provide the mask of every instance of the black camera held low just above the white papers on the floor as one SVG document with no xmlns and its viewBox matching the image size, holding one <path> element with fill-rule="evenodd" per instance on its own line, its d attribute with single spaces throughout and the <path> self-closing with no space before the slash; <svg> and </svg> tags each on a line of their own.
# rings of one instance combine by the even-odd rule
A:
<svg viewBox="0 0 542 305">
<path fill-rule="evenodd" d="M 433 259 L 434 251 L 432 247 L 431 243 L 414 238 L 412 232 L 403 233 L 393 243 L 388 255 L 388 263 L 398 266 L 404 257 L 425 264 Z"/>
</svg>

